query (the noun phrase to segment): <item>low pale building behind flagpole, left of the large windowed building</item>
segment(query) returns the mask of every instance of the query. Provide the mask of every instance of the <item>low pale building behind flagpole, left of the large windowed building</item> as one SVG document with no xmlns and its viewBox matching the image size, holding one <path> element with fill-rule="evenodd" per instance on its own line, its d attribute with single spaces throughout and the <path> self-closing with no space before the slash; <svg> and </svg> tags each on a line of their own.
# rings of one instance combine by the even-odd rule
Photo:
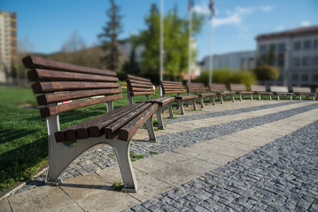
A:
<svg viewBox="0 0 318 212">
<path fill-rule="evenodd" d="M 255 50 L 237 51 L 213 55 L 213 69 L 229 68 L 233 71 L 252 70 L 255 68 Z M 210 70 L 210 56 L 203 59 L 203 68 Z"/>
</svg>

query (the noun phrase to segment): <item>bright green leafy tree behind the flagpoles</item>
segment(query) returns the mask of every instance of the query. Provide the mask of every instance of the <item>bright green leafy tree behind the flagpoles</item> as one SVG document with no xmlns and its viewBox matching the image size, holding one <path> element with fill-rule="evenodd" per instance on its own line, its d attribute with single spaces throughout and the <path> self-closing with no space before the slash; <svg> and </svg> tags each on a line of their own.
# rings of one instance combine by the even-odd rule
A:
<svg viewBox="0 0 318 212">
<path fill-rule="evenodd" d="M 193 13 L 192 35 L 201 31 L 204 16 Z M 159 10 L 156 4 L 151 4 L 150 15 L 145 17 L 147 29 L 137 37 L 137 43 L 143 44 L 142 73 L 143 76 L 151 78 L 153 82 L 159 81 Z M 177 8 L 168 11 L 164 19 L 165 56 L 164 66 L 169 78 L 180 79 L 182 72 L 188 67 L 189 49 L 189 20 L 178 16 Z M 196 52 L 192 52 L 195 61 Z"/>
</svg>

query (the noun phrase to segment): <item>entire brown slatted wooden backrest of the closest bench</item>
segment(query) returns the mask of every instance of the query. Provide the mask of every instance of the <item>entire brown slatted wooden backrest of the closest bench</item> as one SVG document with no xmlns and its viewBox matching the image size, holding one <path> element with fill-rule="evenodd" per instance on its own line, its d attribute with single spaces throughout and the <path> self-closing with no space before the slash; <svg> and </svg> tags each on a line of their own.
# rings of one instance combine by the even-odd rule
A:
<svg viewBox="0 0 318 212">
<path fill-rule="evenodd" d="M 65 64 L 27 56 L 23 64 L 31 70 L 28 78 L 35 81 L 32 89 L 42 117 L 123 98 L 115 72 Z M 94 98 L 89 98 L 94 97 Z M 60 103 L 70 100 L 75 102 Z"/>
</svg>

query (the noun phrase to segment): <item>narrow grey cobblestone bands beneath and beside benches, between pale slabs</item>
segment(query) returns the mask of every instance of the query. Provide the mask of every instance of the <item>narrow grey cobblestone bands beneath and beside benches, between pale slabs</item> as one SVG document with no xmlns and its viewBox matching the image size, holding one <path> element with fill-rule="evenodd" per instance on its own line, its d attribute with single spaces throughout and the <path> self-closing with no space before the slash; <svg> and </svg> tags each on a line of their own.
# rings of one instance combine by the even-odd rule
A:
<svg viewBox="0 0 318 212">
<path fill-rule="evenodd" d="M 244 108 L 240 110 L 226 110 L 221 112 L 214 113 L 206 113 L 206 114 L 198 114 L 189 116 L 193 120 L 195 119 L 203 119 L 213 116 L 227 116 L 232 114 L 243 113 L 247 111 L 253 110 L 263 110 L 268 108 L 275 108 L 279 106 L 294 104 L 298 102 L 282 102 L 275 103 L 263 106 L 257 106 L 252 108 Z M 273 114 L 268 114 L 266 116 L 260 117 L 252 117 L 244 120 L 234 121 L 230 123 L 225 123 L 221 125 L 211 125 L 206 127 L 200 127 L 195 130 L 190 130 L 181 133 L 172 133 L 167 135 L 161 135 L 157 137 L 158 142 L 132 142 L 131 151 L 136 153 L 137 155 L 143 155 L 145 157 L 151 156 L 151 152 L 156 152 L 158 154 L 162 154 L 165 152 L 169 152 L 175 150 L 175 148 L 186 147 L 198 142 L 202 142 L 205 140 L 212 140 L 214 138 L 229 134 L 235 133 L 241 130 L 249 129 L 255 127 L 257 125 L 265 125 L 270 122 L 274 122 L 276 120 L 280 120 L 286 117 L 291 117 L 296 114 L 314 110 L 318 108 L 318 103 L 314 103 L 311 105 L 299 107 L 291 110 L 284 110 L 281 112 L 275 112 Z M 178 117 L 178 119 L 182 119 L 183 121 L 189 120 L 185 117 Z M 175 119 L 175 120 L 178 120 Z M 174 120 L 174 119 L 173 119 Z M 170 120 L 171 121 L 171 120 Z M 213 132 L 213 133 L 211 133 Z M 110 167 L 117 165 L 117 158 L 115 156 L 114 151 L 111 147 L 102 146 L 98 148 L 92 148 L 89 151 L 86 151 L 82 154 L 78 159 L 76 159 L 75 163 L 71 163 L 71 165 L 62 173 L 59 177 L 60 179 L 66 180 L 69 178 L 75 178 L 81 175 L 89 174 L 91 172 L 102 170 L 105 167 Z M 33 181 L 27 184 L 27 186 L 23 187 L 16 193 L 20 193 L 29 189 L 33 189 L 36 186 L 43 186 L 44 174 L 35 178 Z"/>
</svg>

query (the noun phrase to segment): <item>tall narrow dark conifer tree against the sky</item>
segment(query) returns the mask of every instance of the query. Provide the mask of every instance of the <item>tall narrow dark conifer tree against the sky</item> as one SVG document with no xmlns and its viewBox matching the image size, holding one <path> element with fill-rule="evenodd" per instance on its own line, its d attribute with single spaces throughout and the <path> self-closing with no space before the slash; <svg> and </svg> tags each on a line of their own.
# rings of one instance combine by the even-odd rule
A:
<svg viewBox="0 0 318 212">
<path fill-rule="evenodd" d="M 120 7 L 115 4 L 114 0 L 110 0 L 111 8 L 106 11 L 108 21 L 103 27 L 103 33 L 98 34 L 102 42 L 102 49 L 107 51 L 105 57 L 101 58 L 101 62 L 112 71 L 120 69 L 120 49 L 117 42 L 118 35 L 122 32 L 120 20 Z"/>
</svg>

